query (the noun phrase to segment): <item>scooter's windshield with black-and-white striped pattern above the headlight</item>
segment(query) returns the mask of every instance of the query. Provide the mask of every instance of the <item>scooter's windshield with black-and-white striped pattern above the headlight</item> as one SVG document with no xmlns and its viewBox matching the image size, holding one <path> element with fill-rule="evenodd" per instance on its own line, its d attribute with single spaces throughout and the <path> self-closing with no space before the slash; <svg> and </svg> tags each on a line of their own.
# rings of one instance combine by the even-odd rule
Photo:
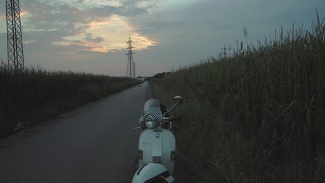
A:
<svg viewBox="0 0 325 183">
<path fill-rule="evenodd" d="M 155 123 L 161 123 L 163 121 L 163 113 L 160 110 L 160 102 L 157 99 L 150 99 L 146 103 L 144 103 L 144 108 L 142 112 L 142 116 L 140 117 L 139 120 L 139 125 L 143 126 L 144 125 L 144 118 L 147 115 L 153 116 L 153 119 Z"/>
</svg>

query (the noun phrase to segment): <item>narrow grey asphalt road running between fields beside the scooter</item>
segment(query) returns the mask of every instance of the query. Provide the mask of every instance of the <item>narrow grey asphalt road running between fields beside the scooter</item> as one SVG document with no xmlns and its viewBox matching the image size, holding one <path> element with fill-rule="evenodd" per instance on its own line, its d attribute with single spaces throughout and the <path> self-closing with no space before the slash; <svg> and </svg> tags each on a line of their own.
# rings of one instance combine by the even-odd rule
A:
<svg viewBox="0 0 325 183">
<path fill-rule="evenodd" d="M 147 82 L 0 150 L 0 182 L 131 182 Z"/>
</svg>

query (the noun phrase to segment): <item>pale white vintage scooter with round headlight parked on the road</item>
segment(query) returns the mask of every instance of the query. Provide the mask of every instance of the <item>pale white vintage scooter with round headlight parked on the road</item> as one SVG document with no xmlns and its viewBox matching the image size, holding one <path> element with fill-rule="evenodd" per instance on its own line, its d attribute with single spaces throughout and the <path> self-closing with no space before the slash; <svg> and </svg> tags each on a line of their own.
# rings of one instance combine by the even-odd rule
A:
<svg viewBox="0 0 325 183">
<path fill-rule="evenodd" d="M 176 143 L 170 128 L 172 128 L 172 121 L 179 118 L 169 117 L 168 112 L 182 102 L 181 96 L 175 96 L 174 105 L 169 110 L 162 109 L 165 105 L 160 104 L 157 99 L 151 99 L 144 104 L 144 112 L 138 127 L 144 130 L 139 137 L 139 165 L 132 183 L 174 182 L 172 175 Z M 168 130 L 164 129 L 167 126 L 169 126 Z"/>
</svg>

